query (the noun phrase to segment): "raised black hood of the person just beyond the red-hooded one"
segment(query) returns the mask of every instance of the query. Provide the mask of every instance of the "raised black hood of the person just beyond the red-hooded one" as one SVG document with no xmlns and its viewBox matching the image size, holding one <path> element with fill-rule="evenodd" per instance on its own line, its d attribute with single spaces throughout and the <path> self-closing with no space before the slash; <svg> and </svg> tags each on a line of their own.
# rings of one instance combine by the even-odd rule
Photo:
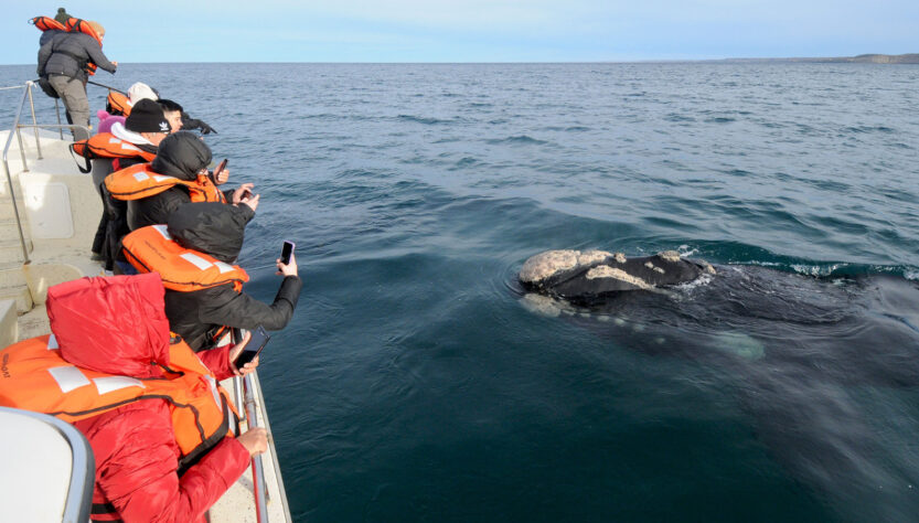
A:
<svg viewBox="0 0 919 523">
<path fill-rule="evenodd" d="M 246 224 L 254 215 L 247 205 L 186 203 L 169 215 L 167 230 L 182 247 L 233 264 L 243 248 Z"/>
</svg>

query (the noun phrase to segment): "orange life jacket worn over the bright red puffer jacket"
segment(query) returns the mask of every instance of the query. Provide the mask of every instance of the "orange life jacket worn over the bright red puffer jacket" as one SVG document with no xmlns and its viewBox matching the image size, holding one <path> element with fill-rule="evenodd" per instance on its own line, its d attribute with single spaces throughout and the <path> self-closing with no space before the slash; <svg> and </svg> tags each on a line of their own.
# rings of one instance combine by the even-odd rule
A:
<svg viewBox="0 0 919 523">
<path fill-rule="evenodd" d="M 98 416 L 128 403 L 165 399 L 184 470 L 236 430 L 236 407 L 213 373 L 178 335 L 164 377 L 137 378 L 81 369 L 58 353 L 53 334 L 0 351 L 0 405 L 65 421 Z"/>
</svg>

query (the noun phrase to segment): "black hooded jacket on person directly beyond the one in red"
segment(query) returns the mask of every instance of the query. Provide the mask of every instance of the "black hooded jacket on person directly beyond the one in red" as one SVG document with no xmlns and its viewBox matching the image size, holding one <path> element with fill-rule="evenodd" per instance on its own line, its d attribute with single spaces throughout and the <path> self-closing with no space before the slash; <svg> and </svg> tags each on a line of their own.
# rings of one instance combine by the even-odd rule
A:
<svg viewBox="0 0 919 523">
<path fill-rule="evenodd" d="M 233 264 L 243 248 L 246 224 L 254 214 L 246 205 L 189 203 L 172 213 L 167 226 L 183 247 Z M 165 316 L 170 329 L 181 334 L 192 350 L 203 351 L 212 346 L 209 333 L 223 325 L 284 329 L 293 316 L 301 287 L 298 276 L 286 276 L 271 305 L 235 291 L 232 284 L 191 292 L 167 290 Z"/>
</svg>

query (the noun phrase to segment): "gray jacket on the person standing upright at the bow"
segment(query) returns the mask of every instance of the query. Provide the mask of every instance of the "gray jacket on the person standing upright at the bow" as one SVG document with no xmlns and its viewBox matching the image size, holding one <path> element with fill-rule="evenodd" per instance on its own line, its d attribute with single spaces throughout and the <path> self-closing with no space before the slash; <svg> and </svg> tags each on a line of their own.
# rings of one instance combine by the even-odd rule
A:
<svg viewBox="0 0 919 523">
<path fill-rule="evenodd" d="M 108 61 L 96 39 L 86 33 L 58 32 L 39 50 L 39 76 L 61 74 L 86 82 L 83 64 L 92 62 L 115 74 L 115 64 Z"/>
</svg>

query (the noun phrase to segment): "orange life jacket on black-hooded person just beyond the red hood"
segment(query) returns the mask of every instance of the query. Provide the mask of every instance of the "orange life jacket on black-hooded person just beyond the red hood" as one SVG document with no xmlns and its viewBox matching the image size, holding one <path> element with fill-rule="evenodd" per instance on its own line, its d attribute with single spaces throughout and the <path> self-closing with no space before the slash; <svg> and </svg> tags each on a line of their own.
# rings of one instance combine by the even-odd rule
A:
<svg viewBox="0 0 919 523">
<path fill-rule="evenodd" d="M 233 284 L 237 292 L 249 275 L 238 265 L 229 265 L 200 250 L 179 245 L 165 225 L 148 225 L 121 239 L 125 258 L 140 274 L 159 273 L 163 287 L 180 292 L 210 289 Z"/>
</svg>

